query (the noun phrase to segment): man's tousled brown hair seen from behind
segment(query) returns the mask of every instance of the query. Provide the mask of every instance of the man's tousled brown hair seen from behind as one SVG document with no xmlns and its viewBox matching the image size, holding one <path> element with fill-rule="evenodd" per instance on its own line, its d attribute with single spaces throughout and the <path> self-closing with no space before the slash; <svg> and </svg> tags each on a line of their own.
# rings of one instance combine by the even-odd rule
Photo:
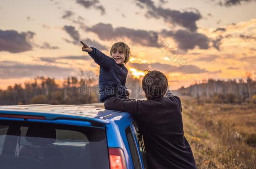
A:
<svg viewBox="0 0 256 169">
<path fill-rule="evenodd" d="M 167 77 L 159 71 L 146 70 L 142 79 L 142 89 L 147 99 L 160 98 L 165 95 L 168 88 Z"/>
</svg>

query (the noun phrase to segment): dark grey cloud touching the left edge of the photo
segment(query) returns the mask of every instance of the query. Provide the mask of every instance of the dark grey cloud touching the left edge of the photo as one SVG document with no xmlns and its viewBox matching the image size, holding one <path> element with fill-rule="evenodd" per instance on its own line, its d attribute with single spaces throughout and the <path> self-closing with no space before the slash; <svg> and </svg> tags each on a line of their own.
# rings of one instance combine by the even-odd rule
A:
<svg viewBox="0 0 256 169">
<path fill-rule="evenodd" d="M 18 33 L 16 30 L 0 30 L 0 51 L 20 53 L 32 50 L 30 40 L 34 35 L 31 31 Z"/>
</svg>

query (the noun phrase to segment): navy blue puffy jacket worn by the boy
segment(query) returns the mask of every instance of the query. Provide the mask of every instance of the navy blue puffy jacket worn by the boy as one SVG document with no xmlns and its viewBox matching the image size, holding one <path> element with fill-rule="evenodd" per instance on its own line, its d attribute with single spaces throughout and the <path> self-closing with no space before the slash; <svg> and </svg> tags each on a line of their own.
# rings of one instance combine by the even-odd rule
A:
<svg viewBox="0 0 256 169">
<path fill-rule="evenodd" d="M 118 65 L 114 59 L 105 55 L 97 48 L 89 55 L 100 66 L 99 68 L 99 100 L 106 101 L 112 96 L 122 96 L 126 98 L 127 88 L 125 87 L 128 70 L 124 64 Z"/>
</svg>

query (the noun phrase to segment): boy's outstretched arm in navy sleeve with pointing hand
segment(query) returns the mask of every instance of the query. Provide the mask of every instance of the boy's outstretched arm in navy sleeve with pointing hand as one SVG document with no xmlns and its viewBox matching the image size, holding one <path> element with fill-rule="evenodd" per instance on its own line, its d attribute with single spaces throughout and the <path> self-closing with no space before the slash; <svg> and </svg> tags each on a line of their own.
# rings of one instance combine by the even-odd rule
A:
<svg viewBox="0 0 256 169">
<path fill-rule="evenodd" d="M 108 57 L 107 55 L 99 51 L 97 48 L 90 48 L 88 45 L 86 45 L 82 41 L 81 43 L 83 44 L 82 50 L 84 52 L 88 52 L 91 58 L 93 58 L 93 60 L 99 66 L 101 66 L 104 69 L 109 69 L 112 67 L 113 63 L 115 62 L 114 59 Z"/>
</svg>

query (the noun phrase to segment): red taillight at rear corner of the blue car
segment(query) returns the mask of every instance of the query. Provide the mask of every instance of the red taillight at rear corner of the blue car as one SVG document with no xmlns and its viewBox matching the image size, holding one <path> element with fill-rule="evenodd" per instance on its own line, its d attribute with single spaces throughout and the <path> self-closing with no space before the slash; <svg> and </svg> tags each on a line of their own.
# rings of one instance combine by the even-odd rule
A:
<svg viewBox="0 0 256 169">
<path fill-rule="evenodd" d="M 123 150 L 120 148 L 108 148 L 110 155 L 110 169 L 127 169 Z"/>
</svg>

